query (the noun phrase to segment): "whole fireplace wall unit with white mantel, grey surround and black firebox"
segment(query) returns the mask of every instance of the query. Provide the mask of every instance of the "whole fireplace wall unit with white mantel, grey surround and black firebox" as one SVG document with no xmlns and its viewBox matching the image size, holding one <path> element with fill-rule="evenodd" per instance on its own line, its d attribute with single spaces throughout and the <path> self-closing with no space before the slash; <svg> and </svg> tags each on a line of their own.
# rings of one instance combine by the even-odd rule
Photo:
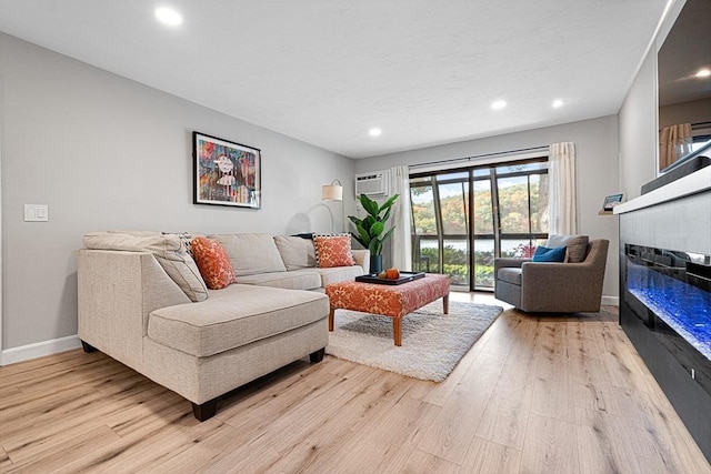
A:
<svg viewBox="0 0 711 474">
<path fill-rule="evenodd" d="M 711 167 L 618 208 L 620 325 L 711 461 Z"/>
</svg>

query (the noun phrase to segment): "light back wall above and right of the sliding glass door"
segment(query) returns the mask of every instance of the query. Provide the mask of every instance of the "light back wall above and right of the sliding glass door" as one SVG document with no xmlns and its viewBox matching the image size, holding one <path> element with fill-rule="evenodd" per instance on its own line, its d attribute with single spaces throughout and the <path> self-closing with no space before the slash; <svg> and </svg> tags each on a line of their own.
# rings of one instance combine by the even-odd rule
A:
<svg viewBox="0 0 711 474">
<path fill-rule="evenodd" d="M 608 297 L 607 302 L 613 303 L 618 296 L 618 220 L 598 215 L 598 211 L 602 209 L 605 195 L 620 190 L 617 115 L 357 160 L 356 172 L 547 147 L 563 141 L 575 143 L 579 232 L 610 241 L 603 295 Z"/>
</svg>

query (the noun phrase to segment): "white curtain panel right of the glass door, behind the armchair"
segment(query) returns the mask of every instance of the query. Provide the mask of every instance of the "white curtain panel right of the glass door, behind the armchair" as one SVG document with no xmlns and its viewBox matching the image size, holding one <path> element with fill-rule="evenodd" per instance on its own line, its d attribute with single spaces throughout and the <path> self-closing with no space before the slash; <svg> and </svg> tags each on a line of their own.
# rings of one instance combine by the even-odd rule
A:
<svg viewBox="0 0 711 474">
<path fill-rule="evenodd" d="M 548 183 L 549 234 L 577 234 L 574 143 L 553 143 L 549 147 Z"/>
</svg>

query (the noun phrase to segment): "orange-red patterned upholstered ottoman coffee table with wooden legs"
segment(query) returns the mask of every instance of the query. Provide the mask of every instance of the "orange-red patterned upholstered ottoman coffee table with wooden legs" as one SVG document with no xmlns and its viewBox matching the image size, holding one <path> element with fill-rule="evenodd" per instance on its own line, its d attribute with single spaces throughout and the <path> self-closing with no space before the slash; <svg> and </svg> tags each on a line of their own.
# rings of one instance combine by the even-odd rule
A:
<svg viewBox="0 0 711 474">
<path fill-rule="evenodd" d="M 449 276 L 427 273 L 424 278 L 399 285 L 344 281 L 326 286 L 331 311 L 329 331 L 333 331 L 336 310 L 351 310 L 392 317 L 395 345 L 402 345 L 402 317 L 425 304 L 442 299 L 449 312 Z"/>
</svg>

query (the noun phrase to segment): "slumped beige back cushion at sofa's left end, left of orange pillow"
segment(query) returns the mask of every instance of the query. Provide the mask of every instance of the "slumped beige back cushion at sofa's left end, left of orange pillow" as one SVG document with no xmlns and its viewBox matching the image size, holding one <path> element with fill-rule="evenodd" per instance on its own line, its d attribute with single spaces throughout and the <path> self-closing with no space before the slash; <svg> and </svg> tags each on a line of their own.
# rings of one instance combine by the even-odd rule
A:
<svg viewBox="0 0 711 474">
<path fill-rule="evenodd" d="M 94 250 L 150 252 L 168 276 L 191 301 L 198 302 L 208 297 L 208 288 L 198 265 L 188 254 L 178 234 L 161 234 L 149 231 L 91 232 L 83 236 L 83 244 L 87 249 Z"/>
</svg>

